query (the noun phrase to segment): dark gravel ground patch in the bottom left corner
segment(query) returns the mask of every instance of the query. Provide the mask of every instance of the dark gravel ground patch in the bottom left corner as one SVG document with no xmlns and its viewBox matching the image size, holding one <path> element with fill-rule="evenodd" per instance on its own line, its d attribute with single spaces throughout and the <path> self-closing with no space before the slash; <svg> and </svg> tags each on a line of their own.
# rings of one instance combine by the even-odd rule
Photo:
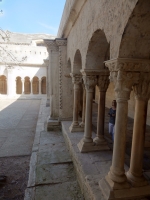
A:
<svg viewBox="0 0 150 200">
<path fill-rule="evenodd" d="M 27 187 L 30 156 L 0 158 L 0 175 L 7 181 L 0 185 L 0 200 L 23 200 Z"/>
</svg>

